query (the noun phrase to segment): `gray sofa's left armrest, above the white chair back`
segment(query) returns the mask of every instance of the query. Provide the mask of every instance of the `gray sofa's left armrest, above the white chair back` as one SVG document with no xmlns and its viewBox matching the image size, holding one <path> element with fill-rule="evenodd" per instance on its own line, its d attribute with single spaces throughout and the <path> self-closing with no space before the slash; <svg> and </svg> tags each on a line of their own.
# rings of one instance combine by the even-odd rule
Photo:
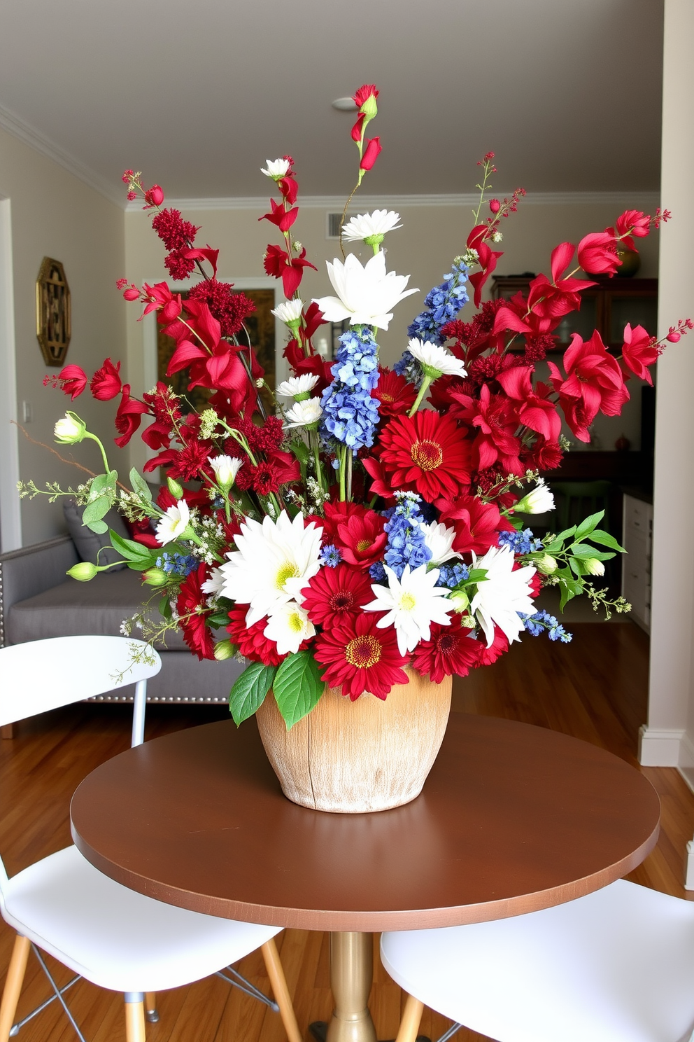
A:
<svg viewBox="0 0 694 1042">
<path fill-rule="evenodd" d="M 0 647 L 5 644 L 5 619 L 12 604 L 65 582 L 66 572 L 78 561 L 70 536 L 0 554 Z"/>
</svg>

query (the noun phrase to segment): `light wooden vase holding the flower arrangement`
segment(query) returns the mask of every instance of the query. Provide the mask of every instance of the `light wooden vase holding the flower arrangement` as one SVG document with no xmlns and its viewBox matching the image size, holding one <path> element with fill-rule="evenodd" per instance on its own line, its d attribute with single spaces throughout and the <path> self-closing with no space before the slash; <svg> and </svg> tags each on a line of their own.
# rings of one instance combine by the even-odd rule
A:
<svg viewBox="0 0 694 1042">
<path fill-rule="evenodd" d="M 409 684 L 384 700 L 356 701 L 329 688 L 290 730 L 268 692 L 256 713 L 267 759 L 287 799 L 336 814 L 387 811 L 421 792 L 443 741 L 452 678 L 432 684 L 407 669 Z"/>
</svg>

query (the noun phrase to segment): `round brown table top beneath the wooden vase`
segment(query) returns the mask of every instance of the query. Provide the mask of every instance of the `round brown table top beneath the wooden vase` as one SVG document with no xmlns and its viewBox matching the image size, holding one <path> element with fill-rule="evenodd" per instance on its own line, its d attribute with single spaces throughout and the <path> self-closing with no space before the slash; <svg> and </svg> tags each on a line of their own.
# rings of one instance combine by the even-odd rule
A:
<svg viewBox="0 0 694 1042">
<path fill-rule="evenodd" d="M 504 918 L 597 890 L 658 837 L 650 784 L 565 735 L 453 713 L 422 794 L 377 814 L 289 802 L 254 720 L 146 742 L 77 789 L 97 868 L 197 912 L 305 929 Z"/>
</svg>

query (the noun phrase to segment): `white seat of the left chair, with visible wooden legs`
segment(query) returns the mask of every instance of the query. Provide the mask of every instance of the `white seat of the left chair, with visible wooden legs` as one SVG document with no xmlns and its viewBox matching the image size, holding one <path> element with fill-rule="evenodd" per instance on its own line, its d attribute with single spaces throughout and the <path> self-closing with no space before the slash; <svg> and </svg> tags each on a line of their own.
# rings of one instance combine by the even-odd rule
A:
<svg viewBox="0 0 694 1042">
<path fill-rule="evenodd" d="M 135 893 L 99 872 L 75 846 L 14 875 L 3 918 L 87 981 L 123 992 L 199 981 L 280 932 Z"/>
</svg>

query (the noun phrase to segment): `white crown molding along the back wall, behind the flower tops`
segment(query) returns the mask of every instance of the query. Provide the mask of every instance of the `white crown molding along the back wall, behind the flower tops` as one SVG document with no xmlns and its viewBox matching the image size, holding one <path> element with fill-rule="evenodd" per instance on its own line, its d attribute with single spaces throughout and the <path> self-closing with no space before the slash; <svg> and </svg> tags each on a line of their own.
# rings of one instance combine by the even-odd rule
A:
<svg viewBox="0 0 694 1042">
<path fill-rule="evenodd" d="M 504 193 L 497 193 L 504 198 Z M 508 196 L 511 192 L 506 193 Z M 480 201 L 479 194 L 465 195 L 382 195 L 359 196 L 350 206 L 355 209 L 405 209 L 408 206 L 471 206 L 474 208 Z M 266 209 L 267 196 L 228 196 L 217 199 L 166 199 L 168 206 L 177 209 Z M 524 206 L 579 206 L 612 204 L 628 206 L 633 209 L 649 209 L 658 206 L 659 192 L 529 192 L 522 199 Z M 307 209 L 326 209 L 341 213 L 344 206 L 342 196 L 304 196 L 300 206 Z M 142 203 L 130 202 L 126 206 L 128 213 L 142 213 Z"/>
</svg>

